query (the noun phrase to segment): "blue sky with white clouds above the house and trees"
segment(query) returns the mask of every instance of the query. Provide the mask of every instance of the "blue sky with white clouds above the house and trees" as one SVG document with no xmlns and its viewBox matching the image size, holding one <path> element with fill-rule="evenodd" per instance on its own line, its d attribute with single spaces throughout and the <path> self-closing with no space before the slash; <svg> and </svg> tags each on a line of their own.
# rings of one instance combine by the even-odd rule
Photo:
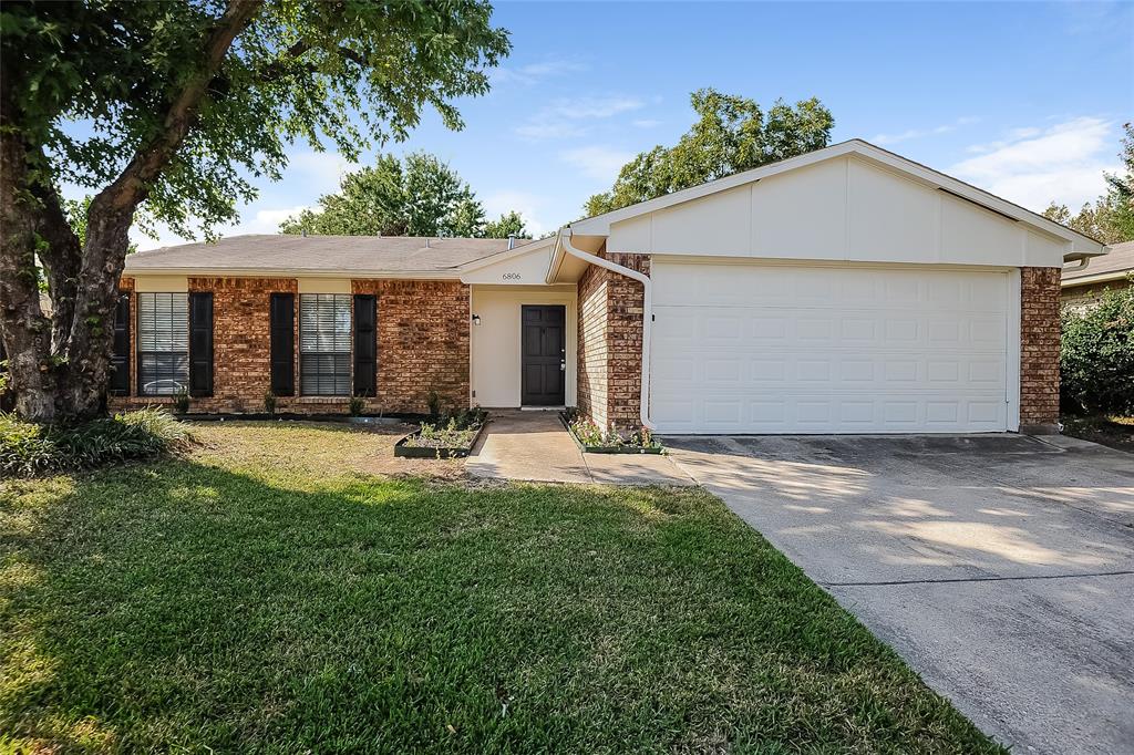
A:
<svg viewBox="0 0 1134 755">
<path fill-rule="evenodd" d="M 429 113 L 386 150 L 440 155 L 490 213 L 515 207 L 538 234 L 672 144 L 703 86 L 762 105 L 815 95 L 833 142 L 872 141 L 1035 211 L 1099 195 L 1134 118 L 1131 3 L 501 2 L 494 20 L 514 50 L 490 94 L 459 103 L 466 128 Z M 291 158 L 226 235 L 274 232 L 352 167 L 304 145 Z"/>
</svg>

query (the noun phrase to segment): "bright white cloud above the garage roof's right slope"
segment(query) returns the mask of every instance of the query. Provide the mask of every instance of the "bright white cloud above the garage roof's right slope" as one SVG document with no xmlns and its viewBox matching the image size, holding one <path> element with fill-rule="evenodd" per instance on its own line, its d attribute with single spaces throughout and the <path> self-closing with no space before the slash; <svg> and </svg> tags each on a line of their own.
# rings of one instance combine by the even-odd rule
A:
<svg viewBox="0 0 1134 755">
<path fill-rule="evenodd" d="M 1117 150 L 1114 122 L 1082 117 L 974 145 L 978 156 L 948 172 L 1035 212 L 1052 201 L 1077 210 L 1106 190 L 1102 173 L 1118 170 Z"/>
</svg>

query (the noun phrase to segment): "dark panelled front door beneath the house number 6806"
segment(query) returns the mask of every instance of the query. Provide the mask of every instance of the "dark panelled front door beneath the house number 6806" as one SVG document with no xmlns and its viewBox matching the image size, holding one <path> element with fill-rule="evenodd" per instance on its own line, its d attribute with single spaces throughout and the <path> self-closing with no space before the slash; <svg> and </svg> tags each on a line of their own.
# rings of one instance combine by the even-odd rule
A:
<svg viewBox="0 0 1134 755">
<path fill-rule="evenodd" d="M 567 308 L 561 304 L 525 304 L 521 320 L 521 404 L 562 406 Z"/>
</svg>

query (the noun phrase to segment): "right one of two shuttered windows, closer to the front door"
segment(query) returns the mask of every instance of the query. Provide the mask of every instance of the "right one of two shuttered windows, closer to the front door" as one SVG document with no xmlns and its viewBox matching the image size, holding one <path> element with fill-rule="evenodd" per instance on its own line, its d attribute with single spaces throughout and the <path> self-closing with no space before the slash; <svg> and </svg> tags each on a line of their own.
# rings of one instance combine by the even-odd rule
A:
<svg viewBox="0 0 1134 755">
<path fill-rule="evenodd" d="M 350 296 L 299 295 L 299 392 L 350 396 Z"/>
</svg>

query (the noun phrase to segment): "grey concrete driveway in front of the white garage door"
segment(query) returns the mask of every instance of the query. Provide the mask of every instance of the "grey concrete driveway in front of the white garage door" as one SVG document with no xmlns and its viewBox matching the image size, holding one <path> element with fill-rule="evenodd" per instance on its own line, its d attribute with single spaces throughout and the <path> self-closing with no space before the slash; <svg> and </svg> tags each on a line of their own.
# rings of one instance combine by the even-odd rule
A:
<svg viewBox="0 0 1134 755">
<path fill-rule="evenodd" d="M 1014 752 L 1134 753 L 1134 456 L 1074 439 L 666 439 Z"/>
</svg>

